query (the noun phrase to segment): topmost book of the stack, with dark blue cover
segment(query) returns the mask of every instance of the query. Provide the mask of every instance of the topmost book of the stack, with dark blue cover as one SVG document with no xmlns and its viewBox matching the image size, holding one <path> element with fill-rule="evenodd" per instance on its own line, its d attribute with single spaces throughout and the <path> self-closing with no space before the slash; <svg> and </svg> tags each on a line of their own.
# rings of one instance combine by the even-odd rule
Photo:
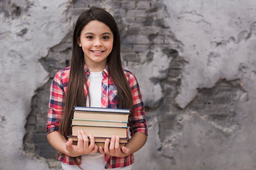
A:
<svg viewBox="0 0 256 170">
<path fill-rule="evenodd" d="M 130 114 L 130 109 L 75 106 L 73 119 L 127 122 L 129 114 Z"/>
</svg>

